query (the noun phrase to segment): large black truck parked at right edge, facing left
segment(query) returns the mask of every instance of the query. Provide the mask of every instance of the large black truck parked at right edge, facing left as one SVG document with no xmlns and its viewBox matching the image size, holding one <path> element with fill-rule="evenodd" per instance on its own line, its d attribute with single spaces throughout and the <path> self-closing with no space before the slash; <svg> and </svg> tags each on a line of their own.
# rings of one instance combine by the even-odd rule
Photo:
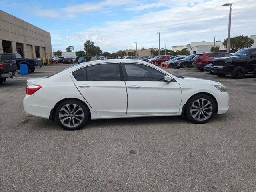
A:
<svg viewBox="0 0 256 192">
<path fill-rule="evenodd" d="M 231 74 L 234 79 L 242 79 L 245 74 L 253 74 L 256 66 L 256 48 L 246 48 L 229 57 L 212 61 L 212 72 L 219 77 Z"/>
</svg>

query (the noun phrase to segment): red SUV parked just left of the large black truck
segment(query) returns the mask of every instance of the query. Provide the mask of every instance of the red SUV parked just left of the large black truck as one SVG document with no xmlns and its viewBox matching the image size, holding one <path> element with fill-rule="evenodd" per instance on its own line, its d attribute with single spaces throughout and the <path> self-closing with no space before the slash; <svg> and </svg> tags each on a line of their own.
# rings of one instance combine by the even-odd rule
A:
<svg viewBox="0 0 256 192">
<path fill-rule="evenodd" d="M 227 52 L 210 52 L 210 53 L 197 54 L 193 59 L 192 66 L 197 67 L 200 71 L 204 71 L 204 67 L 207 64 L 212 63 L 212 60 L 214 58 L 229 57 L 229 56 L 231 56 L 231 54 Z"/>
</svg>

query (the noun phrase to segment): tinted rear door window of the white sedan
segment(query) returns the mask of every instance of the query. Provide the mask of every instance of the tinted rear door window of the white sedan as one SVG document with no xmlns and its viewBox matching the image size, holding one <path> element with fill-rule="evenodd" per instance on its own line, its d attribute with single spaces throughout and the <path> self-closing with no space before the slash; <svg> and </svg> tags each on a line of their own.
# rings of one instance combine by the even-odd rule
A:
<svg viewBox="0 0 256 192">
<path fill-rule="evenodd" d="M 87 67 L 88 81 L 120 81 L 118 63 L 100 64 Z"/>
</svg>

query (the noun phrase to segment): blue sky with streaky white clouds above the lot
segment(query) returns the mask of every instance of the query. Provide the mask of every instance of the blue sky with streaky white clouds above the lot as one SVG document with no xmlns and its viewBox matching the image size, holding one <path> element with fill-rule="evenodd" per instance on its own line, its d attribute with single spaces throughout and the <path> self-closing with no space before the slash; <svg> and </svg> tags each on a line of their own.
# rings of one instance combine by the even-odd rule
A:
<svg viewBox="0 0 256 192">
<path fill-rule="evenodd" d="M 255 0 L 1 0 L 0 9 L 51 33 L 54 51 L 92 40 L 103 52 L 171 49 L 190 42 L 256 34 Z"/>
</svg>

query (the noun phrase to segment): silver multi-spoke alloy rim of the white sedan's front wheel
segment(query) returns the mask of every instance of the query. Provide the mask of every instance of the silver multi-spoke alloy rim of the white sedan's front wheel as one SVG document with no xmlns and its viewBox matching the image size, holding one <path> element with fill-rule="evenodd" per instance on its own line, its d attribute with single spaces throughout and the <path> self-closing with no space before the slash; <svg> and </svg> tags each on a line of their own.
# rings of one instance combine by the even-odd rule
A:
<svg viewBox="0 0 256 192">
<path fill-rule="evenodd" d="M 190 107 L 192 118 L 204 121 L 212 115 L 212 103 L 204 98 L 195 100 Z"/>
</svg>

